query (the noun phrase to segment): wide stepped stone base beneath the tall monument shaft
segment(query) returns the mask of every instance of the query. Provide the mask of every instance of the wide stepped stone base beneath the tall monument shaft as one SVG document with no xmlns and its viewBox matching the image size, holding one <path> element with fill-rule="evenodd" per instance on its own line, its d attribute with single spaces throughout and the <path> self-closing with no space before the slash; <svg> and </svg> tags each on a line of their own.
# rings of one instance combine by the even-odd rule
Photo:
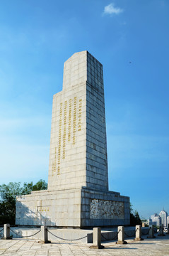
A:
<svg viewBox="0 0 169 256">
<path fill-rule="evenodd" d="M 93 228 L 129 225 L 129 197 L 86 187 L 33 191 L 16 201 L 16 225 Z"/>
</svg>

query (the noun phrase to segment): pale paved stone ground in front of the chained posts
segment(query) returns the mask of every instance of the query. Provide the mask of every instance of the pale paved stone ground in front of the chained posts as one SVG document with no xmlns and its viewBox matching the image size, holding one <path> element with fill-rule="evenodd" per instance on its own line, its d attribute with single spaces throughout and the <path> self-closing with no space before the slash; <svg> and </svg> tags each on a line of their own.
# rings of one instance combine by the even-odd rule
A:
<svg viewBox="0 0 169 256">
<path fill-rule="evenodd" d="M 144 241 L 127 240 L 127 245 L 116 245 L 115 242 L 103 242 L 103 250 L 90 249 L 90 244 L 81 242 L 66 243 L 52 241 L 51 244 L 40 244 L 37 240 L 0 240 L 0 255 L 12 256 L 69 256 L 69 255 L 169 255 L 169 235 L 144 239 Z"/>
</svg>

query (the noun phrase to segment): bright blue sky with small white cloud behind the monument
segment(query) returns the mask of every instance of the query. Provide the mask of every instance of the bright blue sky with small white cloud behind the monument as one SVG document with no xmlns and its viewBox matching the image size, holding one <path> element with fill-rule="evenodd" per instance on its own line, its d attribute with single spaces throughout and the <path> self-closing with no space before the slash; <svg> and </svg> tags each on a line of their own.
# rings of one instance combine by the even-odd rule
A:
<svg viewBox="0 0 169 256">
<path fill-rule="evenodd" d="M 0 183 L 47 181 L 64 61 L 103 63 L 109 186 L 169 213 L 168 0 L 0 1 Z"/>
</svg>

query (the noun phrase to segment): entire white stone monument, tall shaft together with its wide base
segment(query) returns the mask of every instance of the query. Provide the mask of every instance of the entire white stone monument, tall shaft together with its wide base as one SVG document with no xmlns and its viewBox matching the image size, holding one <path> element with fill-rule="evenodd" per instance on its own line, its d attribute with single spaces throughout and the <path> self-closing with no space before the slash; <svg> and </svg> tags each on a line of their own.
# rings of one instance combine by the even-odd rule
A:
<svg viewBox="0 0 169 256">
<path fill-rule="evenodd" d="M 108 191 L 103 65 L 88 51 L 64 63 L 53 97 L 47 191 L 17 198 L 17 225 L 129 225 L 129 197 Z"/>
</svg>

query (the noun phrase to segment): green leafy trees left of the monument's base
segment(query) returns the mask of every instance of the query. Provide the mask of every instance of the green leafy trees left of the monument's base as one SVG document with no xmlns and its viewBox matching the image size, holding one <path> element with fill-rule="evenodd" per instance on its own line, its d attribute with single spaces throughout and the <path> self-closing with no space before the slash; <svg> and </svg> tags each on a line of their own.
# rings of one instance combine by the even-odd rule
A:
<svg viewBox="0 0 169 256">
<path fill-rule="evenodd" d="M 16 196 L 30 194 L 31 191 L 47 189 L 47 183 L 42 179 L 33 185 L 33 182 L 10 182 L 8 185 L 0 185 L 0 224 L 15 224 Z"/>
</svg>

